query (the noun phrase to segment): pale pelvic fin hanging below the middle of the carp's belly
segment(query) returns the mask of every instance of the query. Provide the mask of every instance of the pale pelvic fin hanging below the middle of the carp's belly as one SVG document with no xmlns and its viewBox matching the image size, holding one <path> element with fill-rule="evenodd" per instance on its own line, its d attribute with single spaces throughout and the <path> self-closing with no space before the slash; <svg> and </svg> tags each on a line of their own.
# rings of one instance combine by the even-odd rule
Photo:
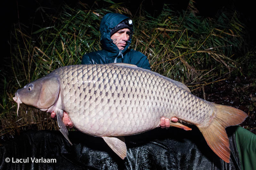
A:
<svg viewBox="0 0 256 170">
<path fill-rule="evenodd" d="M 126 157 L 124 137 L 102 137 L 108 146 L 122 159 Z"/>
</svg>

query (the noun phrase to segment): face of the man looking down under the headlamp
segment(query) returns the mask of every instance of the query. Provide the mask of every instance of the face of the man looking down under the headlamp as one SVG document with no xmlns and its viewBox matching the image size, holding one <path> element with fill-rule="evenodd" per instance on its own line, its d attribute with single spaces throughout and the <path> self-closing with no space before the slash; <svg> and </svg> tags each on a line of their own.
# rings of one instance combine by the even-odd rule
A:
<svg viewBox="0 0 256 170">
<path fill-rule="evenodd" d="M 127 44 L 127 40 L 129 40 L 131 35 L 131 31 L 128 28 L 124 28 L 118 30 L 114 33 L 110 38 L 116 44 L 117 48 L 123 50 Z"/>
</svg>

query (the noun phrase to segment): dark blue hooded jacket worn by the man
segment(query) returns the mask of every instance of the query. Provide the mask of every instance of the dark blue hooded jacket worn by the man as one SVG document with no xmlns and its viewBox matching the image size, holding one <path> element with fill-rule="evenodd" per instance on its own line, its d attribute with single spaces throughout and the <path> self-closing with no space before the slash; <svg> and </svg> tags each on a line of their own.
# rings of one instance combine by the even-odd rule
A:
<svg viewBox="0 0 256 170">
<path fill-rule="evenodd" d="M 129 17 L 118 13 L 106 14 L 100 23 L 100 42 L 103 49 L 85 54 L 81 64 L 115 63 L 116 59 L 116 63 L 134 64 L 138 67 L 150 70 L 150 65 L 145 55 L 139 51 L 128 49 L 132 40 L 132 33 L 124 50 L 119 50 L 116 44 L 114 44 L 113 40 L 110 38 L 111 29 L 127 18 Z"/>
</svg>

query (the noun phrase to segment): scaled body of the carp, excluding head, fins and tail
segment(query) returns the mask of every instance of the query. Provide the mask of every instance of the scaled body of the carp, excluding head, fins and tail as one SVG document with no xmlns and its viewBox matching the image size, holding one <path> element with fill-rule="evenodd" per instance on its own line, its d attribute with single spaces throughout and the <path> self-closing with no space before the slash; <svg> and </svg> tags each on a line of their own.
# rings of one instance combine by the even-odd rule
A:
<svg viewBox="0 0 256 170">
<path fill-rule="evenodd" d="M 52 74 L 60 77 L 63 110 L 77 129 L 93 136 L 141 133 L 158 127 L 163 116 L 202 124 L 213 112 L 212 103 L 199 100 L 168 79 L 144 69 L 72 65 Z M 193 97 L 196 103 L 191 110 L 186 101 Z"/>
</svg>

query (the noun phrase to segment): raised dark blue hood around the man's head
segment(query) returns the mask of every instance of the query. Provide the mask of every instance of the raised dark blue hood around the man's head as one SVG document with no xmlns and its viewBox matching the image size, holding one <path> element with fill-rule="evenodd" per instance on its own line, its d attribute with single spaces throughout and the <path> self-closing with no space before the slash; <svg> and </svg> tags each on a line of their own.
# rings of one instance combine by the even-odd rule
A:
<svg viewBox="0 0 256 170">
<path fill-rule="evenodd" d="M 116 44 L 113 43 L 113 40 L 110 38 L 111 29 L 113 29 L 117 24 L 119 24 L 124 19 L 127 19 L 129 17 L 126 17 L 125 15 L 118 14 L 118 13 L 108 13 L 106 14 L 100 23 L 100 42 L 102 45 L 102 48 L 114 53 L 113 57 L 117 56 L 119 54 L 119 49 L 117 48 Z M 132 33 L 130 35 L 130 38 L 128 41 L 131 42 L 132 40 Z M 124 50 L 122 50 L 122 53 L 124 53 L 128 47 L 130 46 L 130 43 L 127 42 L 127 45 L 125 46 Z"/>
</svg>

